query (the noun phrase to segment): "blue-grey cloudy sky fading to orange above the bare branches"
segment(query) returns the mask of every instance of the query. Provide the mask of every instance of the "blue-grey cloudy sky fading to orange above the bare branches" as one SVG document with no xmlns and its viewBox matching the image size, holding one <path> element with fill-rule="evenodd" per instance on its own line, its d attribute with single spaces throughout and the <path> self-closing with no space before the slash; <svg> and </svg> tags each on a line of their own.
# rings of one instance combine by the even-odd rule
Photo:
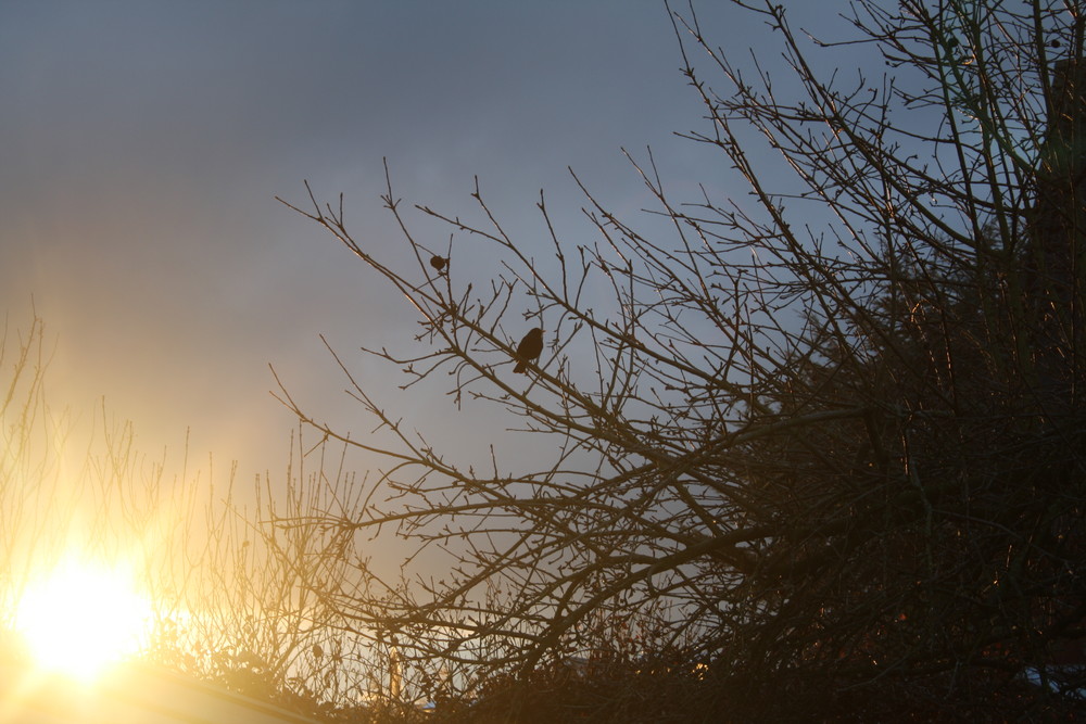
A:
<svg viewBox="0 0 1086 724">
<path fill-rule="evenodd" d="M 768 37 L 697 8 L 729 49 Z M 478 177 L 512 228 L 540 228 L 541 189 L 577 216 L 569 166 L 635 214 L 623 148 L 728 193 L 722 158 L 674 136 L 705 128 L 680 62 L 657 0 L 0 0 L 0 312 L 9 333 L 31 300 L 45 320 L 54 408 L 86 423 L 104 399 L 142 449 L 176 459 L 188 434 L 242 477 L 295 427 L 269 365 L 316 417 L 371 427 L 320 334 L 405 417 L 454 420 L 351 354 L 405 344 L 409 309 L 275 196 L 342 192 L 356 238 L 394 252 L 382 158 L 396 195 L 453 215 Z"/>
</svg>

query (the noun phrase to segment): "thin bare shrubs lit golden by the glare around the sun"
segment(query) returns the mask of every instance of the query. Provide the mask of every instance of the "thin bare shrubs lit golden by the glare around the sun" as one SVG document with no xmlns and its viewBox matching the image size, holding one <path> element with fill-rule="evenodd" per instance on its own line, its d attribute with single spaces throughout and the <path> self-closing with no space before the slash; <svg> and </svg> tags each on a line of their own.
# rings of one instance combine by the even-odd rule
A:
<svg viewBox="0 0 1086 724">
<path fill-rule="evenodd" d="M 250 495 L 236 466 L 216 478 L 211 459 L 190 463 L 188 445 L 179 460 L 149 456 L 104 403 L 83 417 L 93 429 L 78 425 L 46 394 L 46 330 L 35 315 L 0 332 L 0 663 L 35 678 L 22 600 L 73 560 L 131 573 L 153 608 L 144 661 L 306 713 L 379 713 L 387 662 L 339 635 L 339 614 L 313 593 L 343 574 L 348 559 L 329 551 L 344 536 L 269 523 L 328 510 L 328 490 L 352 509 L 342 461 L 325 459 L 327 445 L 303 449 L 299 434 L 283 474 L 266 474 Z M 78 651 L 80 642 L 59 645 Z"/>
</svg>

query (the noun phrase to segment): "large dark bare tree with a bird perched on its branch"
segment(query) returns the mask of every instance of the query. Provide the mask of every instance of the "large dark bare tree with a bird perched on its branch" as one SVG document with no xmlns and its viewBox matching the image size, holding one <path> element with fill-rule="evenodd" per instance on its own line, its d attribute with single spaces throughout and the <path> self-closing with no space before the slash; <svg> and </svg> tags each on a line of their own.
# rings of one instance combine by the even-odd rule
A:
<svg viewBox="0 0 1086 724">
<path fill-rule="evenodd" d="M 678 653 L 670 671 L 702 671 L 702 703 L 733 715 L 871 712 L 873 691 L 1025 707 L 1009 683 L 1086 613 L 1082 8 L 855 0 L 830 42 L 734 4 L 771 28 L 787 84 L 716 48 L 693 7 L 671 17 L 709 120 L 687 137 L 745 199 L 679 203 L 631 156 L 667 227 L 581 186 L 594 241 L 565 239 L 541 196 L 540 258 L 478 185 L 478 220 L 417 207 L 450 227 L 438 247 L 389 181 L 406 266 L 352 236 L 342 196 L 291 206 L 416 312 L 418 347 L 370 354 L 405 386 L 447 373 L 550 459 L 462 463 L 341 361 L 379 434 L 282 401 L 384 465 L 354 515 L 283 523 L 451 556 L 444 580 L 388 584 L 356 560 L 321 593 L 426 665 L 530 672 L 599 646 L 604 617 L 652 622 L 635 658 Z M 825 71 L 844 46 L 879 65 Z M 493 276 L 457 263 L 468 239 Z"/>
</svg>

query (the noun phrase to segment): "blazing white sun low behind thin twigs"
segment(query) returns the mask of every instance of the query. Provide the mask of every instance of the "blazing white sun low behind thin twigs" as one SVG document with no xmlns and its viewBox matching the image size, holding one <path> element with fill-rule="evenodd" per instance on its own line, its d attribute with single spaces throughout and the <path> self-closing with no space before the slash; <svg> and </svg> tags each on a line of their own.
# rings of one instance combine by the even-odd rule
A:
<svg viewBox="0 0 1086 724">
<path fill-rule="evenodd" d="M 16 628 L 43 669 L 89 679 L 137 652 L 151 605 L 121 567 L 68 560 L 27 586 Z"/>
</svg>

